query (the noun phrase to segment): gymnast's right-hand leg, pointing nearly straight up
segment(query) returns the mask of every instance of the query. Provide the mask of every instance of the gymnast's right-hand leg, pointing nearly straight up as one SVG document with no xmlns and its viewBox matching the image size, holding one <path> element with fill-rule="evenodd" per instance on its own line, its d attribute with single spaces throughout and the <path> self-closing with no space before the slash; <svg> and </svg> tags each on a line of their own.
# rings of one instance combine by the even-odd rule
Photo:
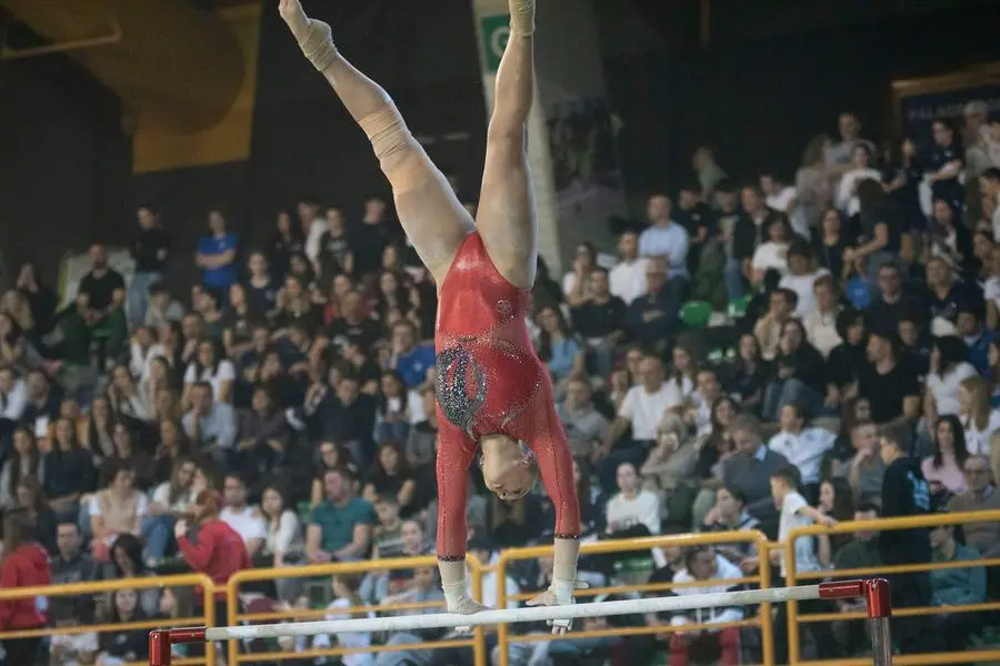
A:
<svg viewBox="0 0 1000 666">
<path fill-rule="evenodd" d="M 476 226 L 500 273 L 516 286 L 528 289 L 534 284 L 538 256 L 526 150 L 534 97 L 534 0 L 509 2 L 510 41 L 497 72 Z"/>
</svg>

